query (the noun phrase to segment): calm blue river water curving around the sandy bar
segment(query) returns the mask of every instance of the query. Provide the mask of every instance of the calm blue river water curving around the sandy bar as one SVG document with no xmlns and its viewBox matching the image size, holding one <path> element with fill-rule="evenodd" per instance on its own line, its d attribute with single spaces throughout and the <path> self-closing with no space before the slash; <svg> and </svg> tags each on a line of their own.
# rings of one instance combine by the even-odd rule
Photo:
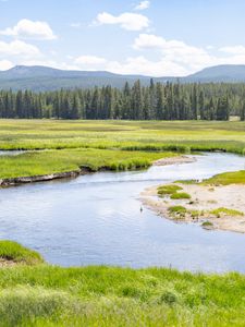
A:
<svg viewBox="0 0 245 327">
<path fill-rule="evenodd" d="M 244 234 L 174 223 L 147 209 L 140 213 L 138 201 L 150 185 L 240 169 L 245 169 L 243 157 L 208 154 L 194 164 L 2 189 L 0 238 L 19 241 L 62 266 L 245 272 Z"/>
</svg>

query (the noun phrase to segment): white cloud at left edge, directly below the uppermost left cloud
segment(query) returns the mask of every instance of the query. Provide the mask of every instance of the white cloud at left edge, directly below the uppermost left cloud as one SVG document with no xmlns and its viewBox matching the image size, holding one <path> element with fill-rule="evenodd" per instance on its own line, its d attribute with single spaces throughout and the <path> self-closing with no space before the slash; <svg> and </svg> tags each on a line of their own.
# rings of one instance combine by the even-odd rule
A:
<svg viewBox="0 0 245 327">
<path fill-rule="evenodd" d="M 38 57 L 40 56 L 40 51 L 37 47 L 21 40 L 11 43 L 0 41 L 0 56 Z"/>
</svg>

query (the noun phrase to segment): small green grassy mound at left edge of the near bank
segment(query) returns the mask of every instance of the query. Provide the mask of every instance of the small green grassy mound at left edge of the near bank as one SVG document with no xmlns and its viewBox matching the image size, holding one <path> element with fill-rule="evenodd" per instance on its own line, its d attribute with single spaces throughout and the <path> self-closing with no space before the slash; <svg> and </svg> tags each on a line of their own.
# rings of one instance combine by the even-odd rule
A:
<svg viewBox="0 0 245 327">
<path fill-rule="evenodd" d="M 44 262 L 37 252 L 11 241 L 0 241 L 0 258 L 27 265 Z"/>
</svg>

